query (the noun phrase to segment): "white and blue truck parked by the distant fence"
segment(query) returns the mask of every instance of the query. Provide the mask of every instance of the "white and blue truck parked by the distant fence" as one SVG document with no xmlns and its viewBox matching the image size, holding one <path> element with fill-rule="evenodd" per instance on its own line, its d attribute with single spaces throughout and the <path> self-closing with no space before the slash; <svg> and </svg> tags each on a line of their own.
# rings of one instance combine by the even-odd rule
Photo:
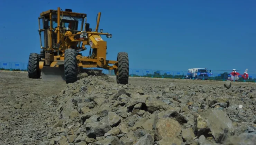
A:
<svg viewBox="0 0 256 145">
<path fill-rule="evenodd" d="M 186 75 L 186 79 L 204 79 L 207 80 L 211 76 L 211 70 L 208 71 L 207 68 L 190 68 Z"/>
</svg>

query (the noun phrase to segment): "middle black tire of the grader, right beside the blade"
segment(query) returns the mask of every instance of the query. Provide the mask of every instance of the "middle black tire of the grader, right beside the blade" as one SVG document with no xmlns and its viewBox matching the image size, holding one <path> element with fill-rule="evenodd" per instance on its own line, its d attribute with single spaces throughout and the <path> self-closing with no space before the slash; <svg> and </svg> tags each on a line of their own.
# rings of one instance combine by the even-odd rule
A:
<svg viewBox="0 0 256 145">
<path fill-rule="evenodd" d="M 77 81 L 77 61 L 74 49 L 65 50 L 64 71 L 67 84 Z"/>
</svg>

